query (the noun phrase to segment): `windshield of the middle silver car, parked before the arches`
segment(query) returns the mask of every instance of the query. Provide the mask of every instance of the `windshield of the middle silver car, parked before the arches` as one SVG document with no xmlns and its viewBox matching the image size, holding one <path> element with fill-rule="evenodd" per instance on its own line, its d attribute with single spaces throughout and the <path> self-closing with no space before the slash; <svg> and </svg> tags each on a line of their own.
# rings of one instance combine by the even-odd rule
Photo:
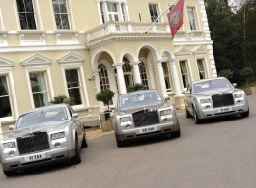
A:
<svg viewBox="0 0 256 188">
<path fill-rule="evenodd" d="M 157 105 L 162 101 L 162 96 L 156 91 L 125 94 L 119 97 L 119 108 L 133 108 L 142 105 Z"/>
</svg>

